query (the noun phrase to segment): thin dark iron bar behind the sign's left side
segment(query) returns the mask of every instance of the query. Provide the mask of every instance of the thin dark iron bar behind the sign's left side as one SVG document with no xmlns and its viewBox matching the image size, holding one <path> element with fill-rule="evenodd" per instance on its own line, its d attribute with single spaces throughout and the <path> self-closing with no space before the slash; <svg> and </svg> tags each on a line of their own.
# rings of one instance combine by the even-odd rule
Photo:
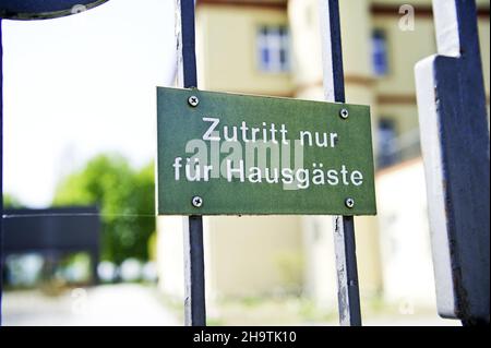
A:
<svg viewBox="0 0 491 348">
<path fill-rule="evenodd" d="M 176 1 L 176 36 L 178 40 L 178 85 L 197 87 L 194 1 Z M 205 326 L 205 280 L 203 218 L 190 216 L 184 224 L 184 325 Z"/>
</svg>

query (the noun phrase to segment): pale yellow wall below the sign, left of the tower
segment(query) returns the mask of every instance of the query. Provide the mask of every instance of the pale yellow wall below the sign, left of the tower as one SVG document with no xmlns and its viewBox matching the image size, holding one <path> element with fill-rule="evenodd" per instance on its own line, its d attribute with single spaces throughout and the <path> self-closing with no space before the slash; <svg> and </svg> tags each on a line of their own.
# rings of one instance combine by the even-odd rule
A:
<svg viewBox="0 0 491 348">
<path fill-rule="evenodd" d="M 207 217 L 205 230 L 212 298 L 255 297 L 301 288 L 299 217 Z"/>
</svg>

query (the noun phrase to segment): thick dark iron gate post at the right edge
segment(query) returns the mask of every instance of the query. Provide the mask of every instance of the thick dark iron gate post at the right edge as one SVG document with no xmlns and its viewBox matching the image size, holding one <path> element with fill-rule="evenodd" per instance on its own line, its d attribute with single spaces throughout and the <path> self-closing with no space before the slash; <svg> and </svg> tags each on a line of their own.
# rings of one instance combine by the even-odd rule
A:
<svg viewBox="0 0 491 348">
<path fill-rule="evenodd" d="M 438 55 L 416 64 L 421 151 L 441 316 L 490 323 L 486 85 L 472 0 L 433 0 Z"/>
</svg>

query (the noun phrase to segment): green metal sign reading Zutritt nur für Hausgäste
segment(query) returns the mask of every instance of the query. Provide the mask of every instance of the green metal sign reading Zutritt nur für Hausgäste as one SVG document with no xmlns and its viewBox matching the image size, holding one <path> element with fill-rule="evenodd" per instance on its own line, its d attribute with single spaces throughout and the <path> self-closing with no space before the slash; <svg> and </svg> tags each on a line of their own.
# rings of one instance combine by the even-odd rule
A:
<svg viewBox="0 0 491 348">
<path fill-rule="evenodd" d="M 157 88 L 159 215 L 374 215 L 368 106 Z"/>
</svg>

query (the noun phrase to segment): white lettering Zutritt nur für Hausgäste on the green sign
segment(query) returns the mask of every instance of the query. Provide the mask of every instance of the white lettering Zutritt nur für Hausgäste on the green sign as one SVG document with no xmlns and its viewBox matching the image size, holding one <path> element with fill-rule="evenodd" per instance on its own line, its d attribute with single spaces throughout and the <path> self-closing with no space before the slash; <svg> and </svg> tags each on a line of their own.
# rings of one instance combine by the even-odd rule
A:
<svg viewBox="0 0 491 348">
<path fill-rule="evenodd" d="M 230 125 L 220 124 L 216 117 L 203 117 L 202 120 L 206 124 L 202 140 L 191 140 L 185 147 L 187 153 L 193 153 L 193 156 L 175 158 L 176 181 L 208 182 L 221 177 L 228 182 L 283 184 L 286 190 L 363 184 L 363 173 L 343 164 L 337 167 L 324 167 L 323 163 L 303 166 L 303 148 L 335 148 L 339 142 L 336 132 L 301 130 L 298 139 L 290 141 L 288 129 L 283 123 L 261 122 L 258 127 L 241 121 Z M 211 142 L 209 156 L 206 142 Z M 290 145 L 295 147 L 294 153 Z M 223 154 L 227 156 L 219 160 Z M 295 167 L 290 165 L 290 154 L 294 154 Z"/>
</svg>

